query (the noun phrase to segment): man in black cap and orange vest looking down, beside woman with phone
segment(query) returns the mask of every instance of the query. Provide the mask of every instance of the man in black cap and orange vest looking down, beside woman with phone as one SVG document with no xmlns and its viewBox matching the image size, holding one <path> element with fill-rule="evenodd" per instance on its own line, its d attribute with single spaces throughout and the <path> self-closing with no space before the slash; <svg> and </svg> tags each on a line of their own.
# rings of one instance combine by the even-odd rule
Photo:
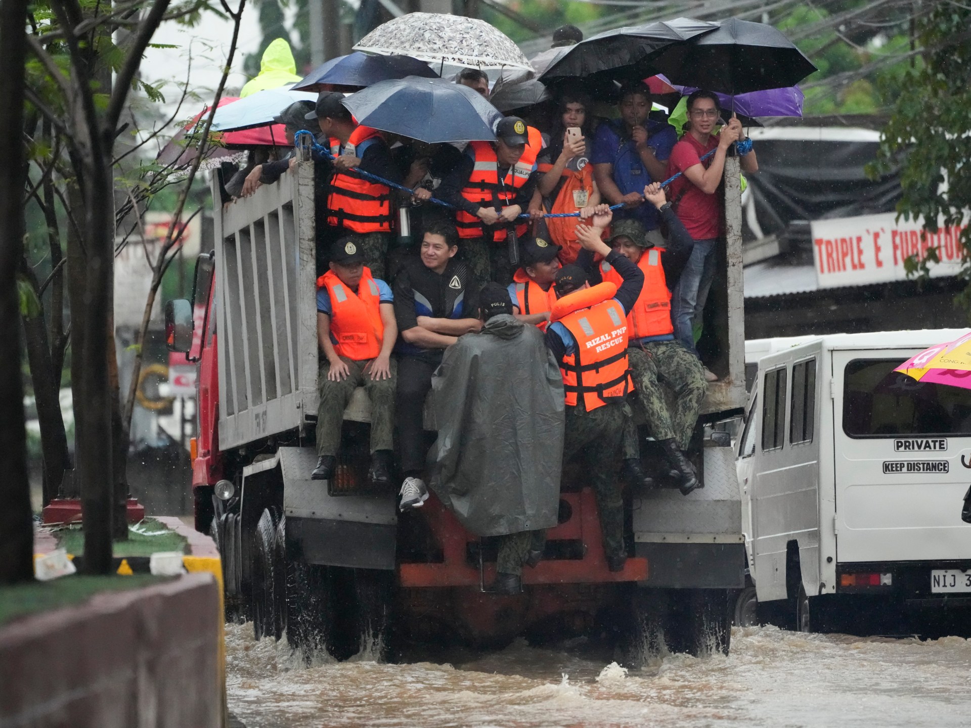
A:
<svg viewBox="0 0 971 728">
<path fill-rule="evenodd" d="M 480 285 L 513 278 L 506 239 L 510 227 L 526 234 L 528 220 L 517 221 L 536 188 L 536 156 L 543 147 L 538 129 L 519 116 L 506 116 L 495 128 L 495 143 L 471 142 L 465 158 L 439 187 L 440 199 L 458 212 L 455 227 L 462 257 Z"/>
</svg>

